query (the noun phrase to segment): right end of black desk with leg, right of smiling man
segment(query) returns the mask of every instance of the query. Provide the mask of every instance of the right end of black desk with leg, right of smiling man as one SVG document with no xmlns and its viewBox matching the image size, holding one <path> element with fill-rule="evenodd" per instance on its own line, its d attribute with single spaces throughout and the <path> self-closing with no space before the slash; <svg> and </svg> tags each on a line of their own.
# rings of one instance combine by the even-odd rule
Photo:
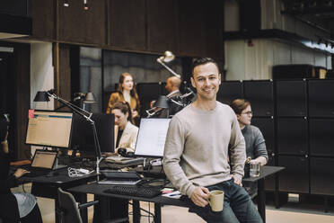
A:
<svg viewBox="0 0 334 223">
<path fill-rule="evenodd" d="M 266 192 L 265 192 L 265 177 L 271 174 L 277 174 L 285 167 L 282 166 L 270 166 L 264 165 L 259 169 L 258 177 L 243 178 L 242 182 L 258 182 L 258 211 L 259 215 L 263 219 L 263 223 L 266 223 Z"/>
</svg>

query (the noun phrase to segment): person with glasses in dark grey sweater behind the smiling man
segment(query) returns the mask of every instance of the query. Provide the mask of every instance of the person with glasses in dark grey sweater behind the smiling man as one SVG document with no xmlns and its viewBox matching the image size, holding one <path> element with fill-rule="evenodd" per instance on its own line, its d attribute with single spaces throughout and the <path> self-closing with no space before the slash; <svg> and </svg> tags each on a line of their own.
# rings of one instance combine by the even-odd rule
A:
<svg viewBox="0 0 334 223">
<path fill-rule="evenodd" d="M 245 138 L 247 157 L 251 157 L 251 163 L 266 165 L 268 162 L 266 143 L 259 128 L 251 125 L 251 103 L 245 99 L 235 99 L 231 103 L 231 108 L 237 116 Z"/>
</svg>

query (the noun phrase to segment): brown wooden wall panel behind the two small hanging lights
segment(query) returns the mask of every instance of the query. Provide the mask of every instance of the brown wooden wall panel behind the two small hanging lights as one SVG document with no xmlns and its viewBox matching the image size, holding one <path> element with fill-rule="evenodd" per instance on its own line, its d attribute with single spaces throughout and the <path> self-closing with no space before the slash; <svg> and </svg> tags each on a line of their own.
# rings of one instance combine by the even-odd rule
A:
<svg viewBox="0 0 334 223">
<path fill-rule="evenodd" d="M 57 1 L 57 40 L 66 42 L 104 45 L 106 43 L 105 1 L 88 1 L 88 10 L 84 10 L 84 1 Z"/>
</svg>

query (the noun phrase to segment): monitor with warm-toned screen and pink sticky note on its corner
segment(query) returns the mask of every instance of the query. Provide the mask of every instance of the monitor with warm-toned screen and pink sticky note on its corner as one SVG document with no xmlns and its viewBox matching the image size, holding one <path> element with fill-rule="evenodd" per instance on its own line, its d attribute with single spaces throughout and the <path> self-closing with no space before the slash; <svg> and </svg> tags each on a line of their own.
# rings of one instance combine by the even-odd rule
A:
<svg viewBox="0 0 334 223">
<path fill-rule="evenodd" d="M 45 147 L 70 147 L 72 112 L 31 111 L 25 143 Z"/>
</svg>

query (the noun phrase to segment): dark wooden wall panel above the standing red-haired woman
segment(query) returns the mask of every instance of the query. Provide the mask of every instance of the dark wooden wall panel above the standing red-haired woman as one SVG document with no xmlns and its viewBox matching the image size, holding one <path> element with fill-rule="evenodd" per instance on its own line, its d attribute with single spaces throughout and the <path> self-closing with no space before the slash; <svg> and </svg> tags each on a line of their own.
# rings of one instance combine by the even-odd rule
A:
<svg viewBox="0 0 334 223">
<path fill-rule="evenodd" d="M 121 49 L 146 49 L 145 0 L 110 0 L 109 44 Z"/>
</svg>

